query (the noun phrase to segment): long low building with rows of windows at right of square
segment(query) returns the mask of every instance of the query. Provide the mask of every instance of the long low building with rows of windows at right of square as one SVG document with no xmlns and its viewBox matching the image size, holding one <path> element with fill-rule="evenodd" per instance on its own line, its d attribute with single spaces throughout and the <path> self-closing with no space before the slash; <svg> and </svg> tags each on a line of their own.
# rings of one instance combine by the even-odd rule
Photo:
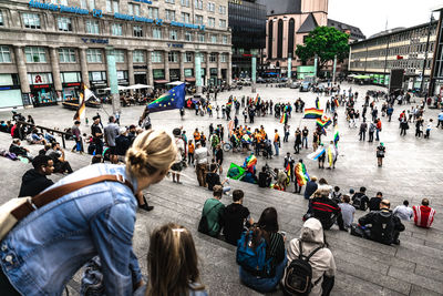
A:
<svg viewBox="0 0 443 296">
<path fill-rule="evenodd" d="M 404 89 L 427 90 L 437 22 L 378 33 L 351 44 L 349 72 L 367 74 L 372 82 L 389 85 L 392 69 L 404 70 Z M 429 42 L 427 42 L 429 35 Z M 423 72 L 424 68 L 424 72 Z"/>
</svg>

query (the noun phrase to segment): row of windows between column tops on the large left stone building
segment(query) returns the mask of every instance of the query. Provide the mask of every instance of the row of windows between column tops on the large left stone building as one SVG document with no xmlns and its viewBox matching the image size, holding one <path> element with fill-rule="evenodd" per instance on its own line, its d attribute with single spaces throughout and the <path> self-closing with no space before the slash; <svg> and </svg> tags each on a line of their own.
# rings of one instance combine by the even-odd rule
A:
<svg viewBox="0 0 443 296">
<path fill-rule="evenodd" d="M 153 51 L 151 54 L 152 62 L 161 63 L 163 62 L 163 51 Z M 27 47 L 24 48 L 24 55 L 27 59 L 27 63 L 45 63 L 47 51 L 44 48 L 40 47 Z M 115 62 L 124 63 L 125 62 L 125 51 L 124 50 L 114 50 Z M 146 57 L 146 51 L 144 50 L 134 50 L 133 52 L 133 62 L 134 63 L 144 63 Z M 168 62 L 178 62 L 179 52 L 178 51 L 169 51 L 167 60 Z M 193 52 L 185 52 L 183 54 L 183 59 L 185 62 L 193 62 Z M 200 53 L 200 58 L 204 59 L 204 55 Z M 76 63 L 75 49 L 62 48 L 59 49 L 59 60 L 60 63 Z M 101 49 L 87 49 L 86 50 L 86 60 L 89 63 L 101 63 L 103 62 L 103 50 Z M 227 61 L 227 54 L 220 54 L 220 62 Z M 0 45 L 0 63 L 10 63 L 11 52 L 10 48 L 7 45 Z M 217 53 L 209 54 L 209 62 L 217 62 Z"/>
</svg>

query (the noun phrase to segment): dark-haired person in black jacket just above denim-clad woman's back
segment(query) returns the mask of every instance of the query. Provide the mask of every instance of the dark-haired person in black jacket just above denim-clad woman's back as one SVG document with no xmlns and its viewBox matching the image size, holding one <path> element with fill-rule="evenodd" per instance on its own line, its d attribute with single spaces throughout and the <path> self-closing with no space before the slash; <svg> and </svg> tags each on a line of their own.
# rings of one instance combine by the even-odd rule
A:
<svg viewBox="0 0 443 296">
<path fill-rule="evenodd" d="M 47 176 L 54 171 L 54 162 L 50 156 L 38 155 L 32 161 L 34 169 L 29 170 L 22 177 L 19 197 L 35 196 L 52 184 Z"/>
</svg>

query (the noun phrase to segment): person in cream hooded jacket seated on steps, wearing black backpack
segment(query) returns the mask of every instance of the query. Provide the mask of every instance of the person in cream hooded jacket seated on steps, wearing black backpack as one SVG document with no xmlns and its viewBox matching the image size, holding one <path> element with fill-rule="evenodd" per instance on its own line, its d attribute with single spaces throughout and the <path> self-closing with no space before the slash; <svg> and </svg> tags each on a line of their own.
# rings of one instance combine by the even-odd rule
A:
<svg viewBox="0 0 443 296">
<path fill-rule="evenodd" d="M 324 233 L 320 221 L 309 218 L 301 227 L 299 238 L 289 242 L 287 249 L 288 265 L 301 254 L 308 256 L 316 248 L 317 251 L 309 259 L 312 267 L 312 289 L 310 296 L 329 295 L 333 287 L 333 278 L 336 276 L 336 261 L 328 244 L 324 241 Z M 285 283 L 284 276 L 281 284 Z"/>
</svg>

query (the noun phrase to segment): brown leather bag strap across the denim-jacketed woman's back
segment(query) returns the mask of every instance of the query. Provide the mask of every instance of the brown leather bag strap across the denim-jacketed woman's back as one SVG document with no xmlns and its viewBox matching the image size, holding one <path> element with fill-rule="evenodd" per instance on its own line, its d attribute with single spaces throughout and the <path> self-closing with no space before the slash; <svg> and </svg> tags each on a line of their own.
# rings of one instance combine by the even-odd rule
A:
<svg viewBox="0 0 443 296">
<path fill-rule="evenodd" d="M 34 210 L 40 208 L 49 203 L 52 203 L 53 201 L 55 201 L 66 194 L 70 194 L 80 188 L 83 188 L 83 187 L 86 187 L 86 186 L 90 186 L 90 185 L 93 185 L 93 184 L 96 184 L 100 182 L 104 182 L 104 181 L 122 183 L 122 184 L 128 186 L 131 188 L 131 191 L 134 193 L 134 187 L 132 186 L 132 184 L 127 180 L 125 180 L 122 175 L 102 175 L 102 176 L 91 177 L 91 178 L 64 184 L 64 185 L 58 186 L 55 188 L 45 191 L 45 192 L 32 197 L 30 203 L 24 203 L 24 204 L 20 205 L 19 207 L 17 207 L 16 210 L 13 210 L 11 212 L 11 214 L 18 221 L 20 221 L 20 220 L 24 218 L 25 216 L 28 216 L 29 214 L 31 214 L 31 212 L 33 212 Z"/>
</svg>

